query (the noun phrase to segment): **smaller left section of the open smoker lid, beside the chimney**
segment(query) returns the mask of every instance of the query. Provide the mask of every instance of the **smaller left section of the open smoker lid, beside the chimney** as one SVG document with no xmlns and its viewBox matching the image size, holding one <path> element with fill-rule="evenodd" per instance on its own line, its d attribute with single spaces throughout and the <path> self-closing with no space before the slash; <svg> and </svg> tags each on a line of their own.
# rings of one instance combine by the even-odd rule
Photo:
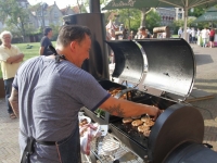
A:
<svg viewBox="0 0 217 163">
<path fill-rule="evenodd" d="M 138 46 L 131 40 L 106 41 L 115 54 L 113 77 L 138 84 L 141 79 L 144 62 Z"/>
</svg>

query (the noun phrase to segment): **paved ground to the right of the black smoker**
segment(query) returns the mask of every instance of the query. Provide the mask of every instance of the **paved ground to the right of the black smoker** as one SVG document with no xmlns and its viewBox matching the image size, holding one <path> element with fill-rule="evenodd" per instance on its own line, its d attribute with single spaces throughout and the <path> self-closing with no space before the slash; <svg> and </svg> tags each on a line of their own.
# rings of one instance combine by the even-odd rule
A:
<svg viewBox="0 0 217 163">
<path fill-rule="evenodd" d="M 214 146 L 217 151 L 217 48 L 192 46 L 196 60 L 194 87 L 215 93 L 215 98 L 191 102 L 201 111 L 205 123 L 204 142 Z"/>
</svg>

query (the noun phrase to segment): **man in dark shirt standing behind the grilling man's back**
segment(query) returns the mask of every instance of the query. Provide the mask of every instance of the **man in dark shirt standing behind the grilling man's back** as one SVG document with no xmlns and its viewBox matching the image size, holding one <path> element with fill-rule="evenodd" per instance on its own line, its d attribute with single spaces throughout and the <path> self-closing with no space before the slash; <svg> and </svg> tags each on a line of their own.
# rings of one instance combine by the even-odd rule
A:
<svg viewBox="0 0 217 163">
<path fill-rule="evenodd" d="M 52 42 L 50 41 L 51 37 L 53 36 L 52 28 L 46 28 L 43 32 L 43 37 L 40 41 L 40 49 L 39 54 L 40 55 L 50 55 L 52 54 L 52 51 L 50 51 L 49 46 L 52 46 Z"/>
</svg>

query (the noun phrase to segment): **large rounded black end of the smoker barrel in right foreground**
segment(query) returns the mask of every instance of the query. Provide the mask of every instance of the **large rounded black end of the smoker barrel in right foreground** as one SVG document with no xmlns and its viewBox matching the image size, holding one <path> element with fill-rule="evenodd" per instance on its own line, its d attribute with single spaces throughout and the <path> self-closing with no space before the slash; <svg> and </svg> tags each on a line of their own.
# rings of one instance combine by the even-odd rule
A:
<svg viewBox="0 0 217 163">
<path fill-rule="evenodd" d="M 174 104 L 156 120 L 149 137 L 149 159 L 163 162 L 178 146 L 191 141 L 202 143 L 204 121 L 199 110 Z"/>
</svg>

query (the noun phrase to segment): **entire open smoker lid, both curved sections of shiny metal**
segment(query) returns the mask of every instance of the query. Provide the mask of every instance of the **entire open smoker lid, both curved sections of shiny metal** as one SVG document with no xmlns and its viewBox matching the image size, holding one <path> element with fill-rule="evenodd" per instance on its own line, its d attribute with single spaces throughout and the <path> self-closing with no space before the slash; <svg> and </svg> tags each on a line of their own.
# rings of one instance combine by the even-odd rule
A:
<svg viewBox="0 0 217 163">
<path fill-rule="evenodd" d="M 193 51 L 186 40 L 143 39 L 137 42 L 106 42 L 115 54 L 113 77 L 139 83 L 144 73 L 143 58 L 146 57 L 148 72 L 142 85 L 184 98 L 190 95 L 194 83 L 195 62 Z"/>
</svg>

